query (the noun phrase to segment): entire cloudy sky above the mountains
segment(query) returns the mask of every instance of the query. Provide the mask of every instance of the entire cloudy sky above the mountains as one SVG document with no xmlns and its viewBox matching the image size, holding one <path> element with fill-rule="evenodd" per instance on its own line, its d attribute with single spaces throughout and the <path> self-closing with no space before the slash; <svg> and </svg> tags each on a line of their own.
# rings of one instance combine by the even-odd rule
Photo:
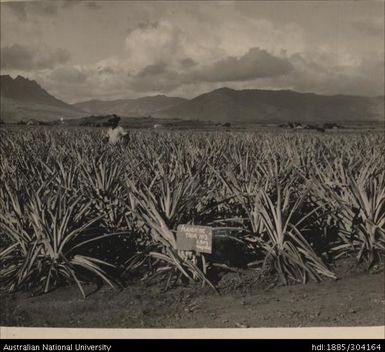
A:
<svg viewBox="0 0 385 352">
<path fill-rule="evenodd" d="M 2 1 L 1 74 L 67 102 L 223 86 L 382 95 L 384 2 Z"/>
</svg>

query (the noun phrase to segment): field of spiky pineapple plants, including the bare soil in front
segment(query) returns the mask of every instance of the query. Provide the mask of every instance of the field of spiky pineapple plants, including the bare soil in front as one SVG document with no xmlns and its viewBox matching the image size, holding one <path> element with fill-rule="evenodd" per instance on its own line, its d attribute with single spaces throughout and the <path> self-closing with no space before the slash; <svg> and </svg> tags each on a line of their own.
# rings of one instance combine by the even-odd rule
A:
<svg viewBox="0 0 385 352">
<path fill-rule="evenodd" d="M 383 133 L 143 129 L 119 145 L 103 142 L 97 128 L 0 134 L 2 325 L 44 325 L 45 304 L 54 315 L 60 300 L 68 319 L 50 326 L 383 325 Z M 181 250 L 182 224 L 213 229 L 212 250 Z M 248 317 L 250 297 L 266 292 L 280 303 L 254 302 L 255 312 L 268 312 L 264 321 L 246 323 L 233 311 L 215 320 L 228 307 Z M 311 319 L 305 311 L 271 316 L 275 304 L 348 306 L 347 292 L 366 298 L 372 313 L 339 322 L 333 306 L 325 321 L 316 311 Z M 138 296 L 166 321 L 143 311 L 104 317 L 107 325 L 70 318 L 102 305 L 130 315 L 121 300 L 137 309 Z M 15 317 L 17 307 L 34 319 Z"/>
</svg>

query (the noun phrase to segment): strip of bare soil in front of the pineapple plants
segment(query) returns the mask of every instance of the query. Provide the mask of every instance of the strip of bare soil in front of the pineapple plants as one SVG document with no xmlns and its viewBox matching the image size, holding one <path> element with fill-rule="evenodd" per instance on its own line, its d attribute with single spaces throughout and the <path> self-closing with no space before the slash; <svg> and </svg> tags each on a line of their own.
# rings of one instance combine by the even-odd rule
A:
<svg viewBox="0 0 385 352">
<path fill-rule="evenodd" d="M 140 284 L 102 288 L 83 299 L 75 287 L 1 296 L 2 326 L 237 328 L 385 325 L 384 272 L 290 287 L 226 274 L 219 296 L 208 288 Z M 92 287 L 88 287 L 91 291 Z"/>
</svg>

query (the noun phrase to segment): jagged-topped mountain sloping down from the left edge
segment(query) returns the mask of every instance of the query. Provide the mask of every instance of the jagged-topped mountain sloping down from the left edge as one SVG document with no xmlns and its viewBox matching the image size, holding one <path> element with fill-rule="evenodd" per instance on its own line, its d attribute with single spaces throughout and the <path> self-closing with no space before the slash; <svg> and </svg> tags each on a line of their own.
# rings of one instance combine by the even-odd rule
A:
<svg viewBox="0 0 385 352">
<path fill-rule="evenodd" d="M 0 76 L 1 119 L 6 123 L 36 119 L 51 121 L 84 115 L 79 109 L 55 98 L 37 82 L 17 76 Z"/>
</svg>

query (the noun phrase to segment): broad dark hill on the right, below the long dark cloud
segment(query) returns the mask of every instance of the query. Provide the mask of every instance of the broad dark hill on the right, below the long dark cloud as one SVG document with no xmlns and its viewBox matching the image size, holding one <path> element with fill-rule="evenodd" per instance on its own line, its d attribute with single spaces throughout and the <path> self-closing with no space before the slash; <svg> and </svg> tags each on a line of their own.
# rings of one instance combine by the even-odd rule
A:
<svg viewBox="0 0 385 352">
<path fill-rule="evenodd" d="M 154 116 L 238 123 L 381 121 L 384 98 L 220 88 Z"/>
</svg>

